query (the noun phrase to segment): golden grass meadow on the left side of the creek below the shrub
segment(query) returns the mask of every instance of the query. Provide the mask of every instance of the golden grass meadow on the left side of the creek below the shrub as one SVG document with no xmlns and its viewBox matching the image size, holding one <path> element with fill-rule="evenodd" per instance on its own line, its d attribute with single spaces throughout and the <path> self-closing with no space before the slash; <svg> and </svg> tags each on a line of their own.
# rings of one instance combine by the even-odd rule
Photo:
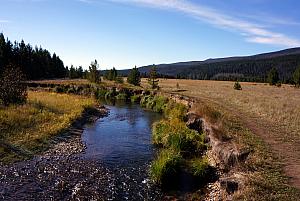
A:
<svg viewBox="0 0 300 201">
<path fill-rule="evenodd" d="M 0 147 L 0 160 L 18 160 L 41 151 L 93 105 L 92 98 L 29 91 L 25 105 L 0 108 L 0 140 L 10 147 Z"/>
</svg>

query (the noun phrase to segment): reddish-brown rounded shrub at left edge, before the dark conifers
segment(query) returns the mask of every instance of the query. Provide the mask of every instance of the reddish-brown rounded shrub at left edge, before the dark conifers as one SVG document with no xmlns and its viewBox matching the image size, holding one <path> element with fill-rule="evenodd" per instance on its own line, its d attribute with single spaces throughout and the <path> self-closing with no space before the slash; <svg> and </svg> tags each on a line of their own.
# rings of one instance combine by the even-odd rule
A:
<svg viewBox="0 0 300 201">
<path fill-rule="evenodd" d="M 9 65 L 0 79 L 0 100 L 3 105 L 23 104 L 27 100 L 27 87 L 21 70 Z"/>
</svg>

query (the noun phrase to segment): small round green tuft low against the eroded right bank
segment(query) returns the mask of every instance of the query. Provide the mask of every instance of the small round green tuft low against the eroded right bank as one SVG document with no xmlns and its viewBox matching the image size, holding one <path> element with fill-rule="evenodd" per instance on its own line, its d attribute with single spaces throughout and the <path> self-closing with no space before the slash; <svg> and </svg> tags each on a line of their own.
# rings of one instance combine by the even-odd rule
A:
<svg viewBox="0 0 300 201">
<path fill-rule="evenodd" d="M 191 160 L 190 162 L 190 171 L 196 177 L 205 177 L 208 172 L 209 164 L 208 159 L 204 158 L 196 158 Z"/>
</svg>

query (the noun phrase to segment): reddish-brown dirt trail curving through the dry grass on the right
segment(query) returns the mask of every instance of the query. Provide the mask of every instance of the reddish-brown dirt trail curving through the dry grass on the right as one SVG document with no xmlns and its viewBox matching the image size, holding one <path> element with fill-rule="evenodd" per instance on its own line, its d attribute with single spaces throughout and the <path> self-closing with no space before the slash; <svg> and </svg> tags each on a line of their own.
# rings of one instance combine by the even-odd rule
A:
<svg viewBox="0 0 300 201">
<path fill-rule="evenodd" d="M 214 102 L 220 105 L 218 100 L 212 100 L 206 97 L 193 97 L 196 100 L 203 102 Z M 289 184 L 295 188 L 300 189 L 300 137 L 290 136 L 286 131 L 278 129 L 277 125 L 262 120 L 259 117 L 245 114 L 235 107 L 230 107 L 222 104 L 222 107 L 229 111 L 234 116 L 238 117 L 247 128 L 249 128 L 255 135 L 264 140 L 278 155 L 283 163 L 283 171 L 289 177 Z"/>
</svg>

